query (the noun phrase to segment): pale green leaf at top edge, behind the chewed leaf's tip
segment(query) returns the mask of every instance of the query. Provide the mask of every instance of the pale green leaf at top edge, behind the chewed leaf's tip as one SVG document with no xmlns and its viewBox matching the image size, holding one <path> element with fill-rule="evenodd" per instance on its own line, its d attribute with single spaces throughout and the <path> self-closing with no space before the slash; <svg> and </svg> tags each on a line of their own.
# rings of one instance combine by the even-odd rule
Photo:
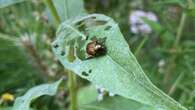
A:
<svg viewBox="0 0 195 110">
<path fill-rule="evenodd" d="M 83 0 L 53 0 L 61 21 L 86 13 Z"/>
</svg>

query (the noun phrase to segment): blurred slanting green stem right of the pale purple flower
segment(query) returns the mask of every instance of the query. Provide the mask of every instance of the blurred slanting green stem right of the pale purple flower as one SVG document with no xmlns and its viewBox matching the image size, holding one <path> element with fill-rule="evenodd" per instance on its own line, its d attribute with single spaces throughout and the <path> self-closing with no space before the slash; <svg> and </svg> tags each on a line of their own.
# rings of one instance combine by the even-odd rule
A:
<svg viewBox="0 0 195 110">
<path fill-rule="evenodd" d="M 181 36 L 183 34 L 183 28 L 184 28 L 184 25 L 185 25 L 185 22 L 186 22 L 186 18 L 187 18 L 187 14 L 185 12 L 183 12 L 181 20 L 180 20 L 179 28 L 178 28 L 177 34 L 176 34 L 176 40 L 175 40 L 175 43 L 174 43 L 175 48 L 177 48 L 177 46 L 178 46 L 178 44 L 181 40 Z"/>
</svg>

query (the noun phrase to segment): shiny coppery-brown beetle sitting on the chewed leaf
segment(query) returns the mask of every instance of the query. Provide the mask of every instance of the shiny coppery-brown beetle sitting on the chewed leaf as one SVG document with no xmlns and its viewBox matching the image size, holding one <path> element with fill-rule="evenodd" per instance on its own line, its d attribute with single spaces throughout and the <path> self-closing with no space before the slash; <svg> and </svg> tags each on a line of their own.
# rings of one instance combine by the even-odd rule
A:
<svg viewBox="0 0 195 110">
<path fill-rule="evenodd" d="M 105 39 L 93 39 L 87 44 L 86 52 L 90 58 L 105 55 L 107 52 Z"/>
</svg>

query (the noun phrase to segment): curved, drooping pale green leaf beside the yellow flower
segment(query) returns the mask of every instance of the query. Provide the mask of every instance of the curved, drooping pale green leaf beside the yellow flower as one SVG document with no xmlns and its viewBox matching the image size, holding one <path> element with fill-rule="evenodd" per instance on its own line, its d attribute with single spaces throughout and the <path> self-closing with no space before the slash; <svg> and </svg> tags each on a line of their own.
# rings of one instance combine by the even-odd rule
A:
<svg viewBox="0 0 195 110">
<path fill-rule="evenodd" d="M 61 81 L 62 79 L 52 84 L 43 84 L 30 89 L 24 96 L 16 99 L 13 110 L 30 110 L 31 101 L 42 95 L 55 95 Z"/>
</svg>

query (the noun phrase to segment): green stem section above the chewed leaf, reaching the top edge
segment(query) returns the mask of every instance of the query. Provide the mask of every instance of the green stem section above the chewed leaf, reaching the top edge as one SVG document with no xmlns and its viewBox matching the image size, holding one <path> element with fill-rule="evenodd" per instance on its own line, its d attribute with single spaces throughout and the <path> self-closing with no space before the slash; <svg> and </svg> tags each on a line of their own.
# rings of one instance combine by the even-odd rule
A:
<svg viewBox="0 0 195 110">
<path fill-rule="evenodd" d="M 60 17 L 57 13 L 57 10 L 52 2 L 52 0 L 44 0 L 44 3 L 46 4 L 46 6 L 49 8 L 49 10 L 51 11 L 51 14 L 55 20 L 56 25 L 58 26 L 61 23 Z"/>
</svg>

